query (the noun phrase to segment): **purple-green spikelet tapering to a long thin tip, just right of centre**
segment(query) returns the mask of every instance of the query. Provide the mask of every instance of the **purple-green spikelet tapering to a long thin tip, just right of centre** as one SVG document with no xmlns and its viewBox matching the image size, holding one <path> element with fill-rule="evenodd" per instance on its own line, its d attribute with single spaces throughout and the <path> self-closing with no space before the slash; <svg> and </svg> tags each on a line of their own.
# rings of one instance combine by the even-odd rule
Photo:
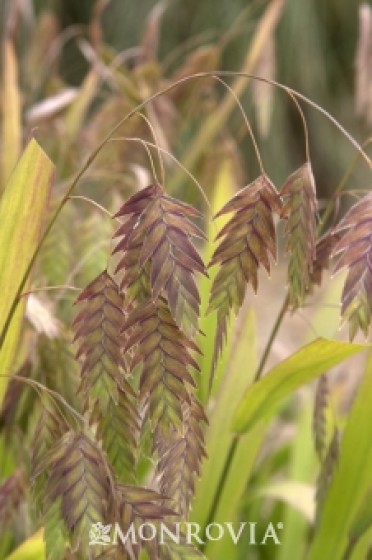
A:
<svg viewBox="0 0 372 560">
<path fill-rule="evenodd" d="M 219 265 L 213 281 L 208 312 L 217 310 L 218 330 L 214 362 L 226 338 L 231 311 L 240 309 L 247 284 L 258 288 L 258 269 L 270 272 L 270 255 L 276 258 L 276 232 L 273 212 L 280 214 L 281 204 L 275 187 L 261 175 L 239 191 L 215 217 L 233 212 L 217 236 L 219 245 L 209 266 Z"/>
</svg>

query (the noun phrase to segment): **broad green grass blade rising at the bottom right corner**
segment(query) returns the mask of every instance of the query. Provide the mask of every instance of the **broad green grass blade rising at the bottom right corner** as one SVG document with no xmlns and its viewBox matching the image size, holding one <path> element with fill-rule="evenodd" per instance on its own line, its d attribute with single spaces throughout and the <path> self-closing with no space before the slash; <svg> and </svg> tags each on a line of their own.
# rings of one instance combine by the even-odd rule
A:
<svg viewBox="0 0 372 560">
<path fill-rule="evenodd" d="M 339 463 L 331 482 L 319 529 L 307 560 L 341 560 L 348 535 L 371 485 L 372 472 L 372 353 L 346 423 Z"/>
</svg>

